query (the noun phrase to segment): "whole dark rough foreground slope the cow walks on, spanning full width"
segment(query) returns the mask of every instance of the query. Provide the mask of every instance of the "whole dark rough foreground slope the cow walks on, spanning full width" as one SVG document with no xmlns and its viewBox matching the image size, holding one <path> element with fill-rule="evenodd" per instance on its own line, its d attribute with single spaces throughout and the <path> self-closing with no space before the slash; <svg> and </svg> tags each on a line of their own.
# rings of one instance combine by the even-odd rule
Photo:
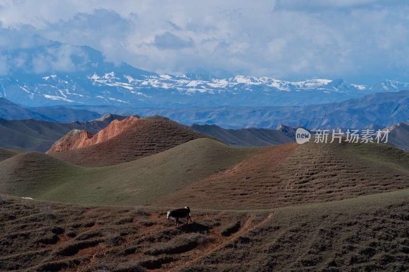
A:
<svg viewBox="0 0 409 272">
<path fill-rule="evenodd" d="M 409 190 L 262 211 L 84 207 L 0 195 L 0 270 L 404 271 Z"/>
</svg>

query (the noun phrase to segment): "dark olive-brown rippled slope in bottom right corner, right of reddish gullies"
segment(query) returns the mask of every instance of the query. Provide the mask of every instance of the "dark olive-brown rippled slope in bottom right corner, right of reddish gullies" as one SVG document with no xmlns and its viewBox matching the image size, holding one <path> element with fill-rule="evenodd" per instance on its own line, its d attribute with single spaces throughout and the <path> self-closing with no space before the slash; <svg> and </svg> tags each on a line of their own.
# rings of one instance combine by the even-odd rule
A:
<svg viewBox="0 0 409 272">
<path fill-rule="evenodd" d="M 178 271 L 407 271 L 409 191 L 274 210 Z"/>
</svg>

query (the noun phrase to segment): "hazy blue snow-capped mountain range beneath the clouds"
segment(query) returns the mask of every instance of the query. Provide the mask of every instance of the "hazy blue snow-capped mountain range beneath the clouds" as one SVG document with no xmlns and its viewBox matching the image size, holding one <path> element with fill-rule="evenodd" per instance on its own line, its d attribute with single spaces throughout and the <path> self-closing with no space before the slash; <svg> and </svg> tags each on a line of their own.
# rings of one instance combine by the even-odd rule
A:
<svg viewBox="0 0 409 272">
<path fill-rule="evenodd" d="M 47 54 L 66 50 L 66 46 L 53 42 L 36 50 L 9 52 L 8 56 L 13 59 L 23 55 L 23 62 L 35 68 L 32 59 L 44 55 L 44 59 L 49 59 Z M 116 66 L 106 62 L 100 52 L 88 46 L 74 48 L 71 48 L 67 57 L 74 67 L 72 69 L 33 72 L 20 65 L 10 70 L 7 76 L 0 77 L 0 97 L 30 107 L 302 106 L 339 102 L 375 92 L 409 89 L 409 83 L 390 80 L 365 86 L 349 84 L 342 79 L 287 82 L 249 76 L 218 79 L 193 74 L 158 75 L 126 63 Z"/>
</svg>

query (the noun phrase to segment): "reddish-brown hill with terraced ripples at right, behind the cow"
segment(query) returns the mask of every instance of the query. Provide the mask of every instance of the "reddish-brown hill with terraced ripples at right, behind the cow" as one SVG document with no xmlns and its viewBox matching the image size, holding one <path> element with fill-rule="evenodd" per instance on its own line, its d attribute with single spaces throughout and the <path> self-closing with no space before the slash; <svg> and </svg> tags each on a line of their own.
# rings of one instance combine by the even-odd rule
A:
<svg viewBox="0 0 409 272">
<path fill-rule="evenodd" d="M 385 144 L 289 143 L 151 203 L 269 209 L 323 203 L 409 187 L 409 154 Z"/>
</svg>

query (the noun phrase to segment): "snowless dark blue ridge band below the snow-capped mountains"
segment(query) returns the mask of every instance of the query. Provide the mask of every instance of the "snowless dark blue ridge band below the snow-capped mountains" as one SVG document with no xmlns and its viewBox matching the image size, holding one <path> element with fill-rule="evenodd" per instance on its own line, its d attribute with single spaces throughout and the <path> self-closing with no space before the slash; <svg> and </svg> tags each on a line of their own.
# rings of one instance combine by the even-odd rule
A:
<svg viewBox="0 0 409 272">
<path fill-rule="evenodd" d="M 280 125 L 308 129 L 342 127 L 383 128 L 409 121 L 409 91 L 373 93 L 344 102 L 306 106 L 133 108 L 108 105 L 28 109 L 0 98 L 0 117 L 58 122 L 86 121 L 113 113 L 162 115 L 185 125 L 218 125 L 225 129 L 268 128 Z M 375 125 L 374 125 L 375 124 Z"/>
</svg>

